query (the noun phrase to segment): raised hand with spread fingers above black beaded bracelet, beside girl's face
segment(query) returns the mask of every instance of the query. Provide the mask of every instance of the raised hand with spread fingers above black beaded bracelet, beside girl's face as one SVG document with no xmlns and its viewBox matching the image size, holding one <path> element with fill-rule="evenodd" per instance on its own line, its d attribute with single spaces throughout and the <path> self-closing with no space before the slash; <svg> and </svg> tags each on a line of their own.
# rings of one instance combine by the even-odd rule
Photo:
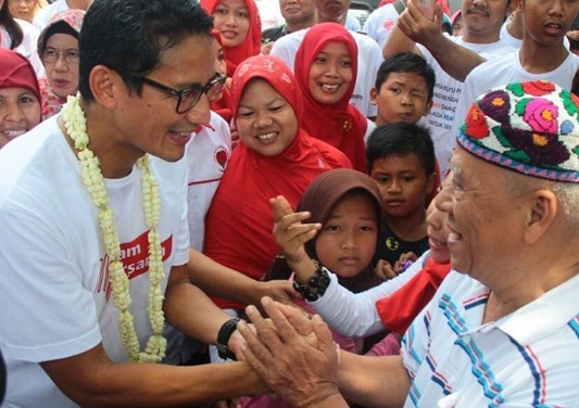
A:
<svg viewBox="0 0 579 408">
<path fill-rule="evenodd" d="M 304 243 L 313 239 L 322 228 L 318 222 L 302 224 L 310 218 L 309 212 L 294 213 L 285 196 L 278 195 L 269 200 L 274 212 L 274 238 L 281 252 L 292 267 L 309 258 Z"/>
</svg>

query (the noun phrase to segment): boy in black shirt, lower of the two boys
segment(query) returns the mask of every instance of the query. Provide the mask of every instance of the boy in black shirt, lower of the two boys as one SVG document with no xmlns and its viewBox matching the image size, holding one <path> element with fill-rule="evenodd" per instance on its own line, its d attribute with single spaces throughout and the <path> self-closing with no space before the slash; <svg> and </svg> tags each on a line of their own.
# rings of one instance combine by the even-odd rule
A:
<svg viewBox="0 0 579 408">
<path fill-rule="evenodd" d="M 425 203 L 437 178 L 435 163 L 430 132 L 416 124 L 378 126 L 368 138 L 366 166 L 382 194 L 385 216 L 374 260 L 383 277 L 400 271 L 402 254 L 428 250 Z"/>
</svg>

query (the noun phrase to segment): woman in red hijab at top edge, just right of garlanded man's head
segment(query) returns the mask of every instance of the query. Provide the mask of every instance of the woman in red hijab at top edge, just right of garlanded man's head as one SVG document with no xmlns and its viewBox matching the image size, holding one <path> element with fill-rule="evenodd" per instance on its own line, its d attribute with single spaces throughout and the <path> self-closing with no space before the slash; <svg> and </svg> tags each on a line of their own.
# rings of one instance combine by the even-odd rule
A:
<svg viewBox="0 0 579 408">
<path fill-rule="evenodd" d="M 201 7 L 213 15 L 215 37 L 223 46 L 227 76 L 230 78 L 237 66 L 246 59 L 257 55 L 262 46 L 262 22 L 253 0 L 201 0 Z M 224 97 L 212 102 L 211 109 L 227 123 L 231 122 L 229 84 Z"/>
</svg>

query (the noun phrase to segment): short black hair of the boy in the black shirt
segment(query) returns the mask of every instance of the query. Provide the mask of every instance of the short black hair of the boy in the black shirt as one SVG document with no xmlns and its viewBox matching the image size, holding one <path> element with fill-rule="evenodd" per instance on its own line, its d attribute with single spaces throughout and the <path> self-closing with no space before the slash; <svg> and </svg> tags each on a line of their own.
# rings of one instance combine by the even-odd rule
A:
<svg viewBox="0 0 579 408">
<path fill-rule="evenodd" d="M 418 156 L 427 176 L 435 173 L 435 144 L 427 128 L 406 122 L 378 126 L 370 133 L 366 144 L 368 174 L 378 158 L 406 156 L 411 153 Z"/>
</svg>

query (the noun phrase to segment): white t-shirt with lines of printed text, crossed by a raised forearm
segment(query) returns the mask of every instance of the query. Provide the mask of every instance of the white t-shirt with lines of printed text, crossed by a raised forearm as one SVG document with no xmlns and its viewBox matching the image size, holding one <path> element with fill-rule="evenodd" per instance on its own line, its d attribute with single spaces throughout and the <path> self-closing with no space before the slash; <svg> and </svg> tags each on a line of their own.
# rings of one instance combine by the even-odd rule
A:
<svg viewBox="0 0 579 408">
<path fill-rule="evenodd" d="M 450 40 L 467 48 L 487 60 L 498 58 L 513 51 L 513 48 L 504 44 L 502 41 L 491 43 L 471 43 L 463 40 L 463 37 L 448 36 Z M 458 98 L 463 89 L 463 82 L 451 77 L 432 56 L 424 46 L 417 43 L 416 47 L 420 50 L 426 61 L 430 64 L 437 75 L 435 84 L 435 93 L 432 95 L 432 107 L 427 116 L 423 117 L 418 123 L 427 126 L 432 136 L 435 143 L 435 153 L 440 165 L 441 174 L 444 175 L 449 167 L 450 153 L 446 146 L 456 138 L 452 133 L 452 124 L 454 120 L 455 111 L 458 104 Z"/>
</svg>

